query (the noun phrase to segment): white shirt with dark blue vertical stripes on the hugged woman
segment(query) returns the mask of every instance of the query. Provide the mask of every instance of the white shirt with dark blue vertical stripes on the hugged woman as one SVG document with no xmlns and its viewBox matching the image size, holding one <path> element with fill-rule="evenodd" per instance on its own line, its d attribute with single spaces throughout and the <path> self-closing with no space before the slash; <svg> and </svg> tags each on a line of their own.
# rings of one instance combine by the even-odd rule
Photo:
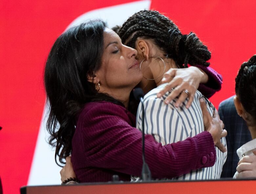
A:
<svg viewBox="0 0 256 194">
<path fill-rule="evenodd" d="M 167 92 L 162 98 L 157 97 L 166 84 L 161 84 L 157 88 L 151 90 L 144 96 L 144 130 L 146 134 L 154 136 L 155 140 L 162 145 L 185 140 L 204 131 L 203 114 L 200 107 L 199 99 L 205 99 L 207 109 L 211 115 L 215 107 L 205 98 L 199 91 L 196 91 L 191 106 L 187 109 L 185 104 L 188 98 L 178 108 L 174 106 L 176 99 L 172 100 L 168 105 L 164 103 L 164 99 L 170 94 Z M 137 112 L 137 128 L 142 131 L 142 106 L 139 104 Z M 221 142 L 226 147 L 225 138 Z M 175 180 L 208 180 L 219 179 L 222 167 L 225 163 L 227 152 L 222 152 L 217 147 L 216 162 L 214 166 L 193 170 L 188 174 L 175 177 Z M 147 156 L 145 156 L 147 158 Z M 186 160 L 186 158 L 184 158 Z M 171 165 L 171 164 L 170 164 Z M 131 176 L 132 181 L 139 181 L 139 177 Z M 172 180 L 173 180 L 172 179 Z"/>
</svg>

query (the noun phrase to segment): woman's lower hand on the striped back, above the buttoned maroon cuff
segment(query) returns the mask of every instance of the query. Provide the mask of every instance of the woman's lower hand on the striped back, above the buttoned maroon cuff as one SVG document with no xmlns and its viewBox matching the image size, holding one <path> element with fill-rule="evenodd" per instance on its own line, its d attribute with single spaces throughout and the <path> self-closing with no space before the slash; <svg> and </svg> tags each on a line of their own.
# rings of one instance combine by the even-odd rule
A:
<svg viewBox="0 0 256 194">
<path fill-rule="evenodd" d="M 221 143 L 221 138 L 227 135 L 227 131 L 223 129 L 224 124 L 222 120 L 220 120 L 219 114 L 215 110 L 212 117 L 207 111 L 204 99 L 200 98 L 199 101 L 203 111 L 203 124 L 205 131 L 211 133 L 215 146 L 217 146 L 222 152 L 227 151 L 225 146 Z"/>
</svg>

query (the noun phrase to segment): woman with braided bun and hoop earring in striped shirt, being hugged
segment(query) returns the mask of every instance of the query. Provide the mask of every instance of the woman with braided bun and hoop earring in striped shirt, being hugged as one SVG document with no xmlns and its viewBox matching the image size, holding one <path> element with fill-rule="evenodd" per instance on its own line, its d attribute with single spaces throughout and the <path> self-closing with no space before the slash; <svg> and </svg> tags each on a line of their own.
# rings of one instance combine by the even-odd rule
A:
<svg viewBox="0 0 256 194">
<path fill-rule="evenodd" d="M 200 98 L 204 98 L 207 109 L 212 115 L 215 108 L 211 102 L 201 92 L 196 91 L 191 106 L 186 108 L 189 100 L 188 90 L 181 93 L 180 96 L 186 98 L 185 102 L 181 103 L 178 98 L 172 98 L 177 92 L 181 92 L 179 91 L 181 86 L 177 86 L 176 91 L 166 91 L 176 85 L 164 83 L 162 78 L 169 69 L 180 68 L 182 71 L 188 67 L 188 64 L 201 65 L 206 69 L 210 64 L 207 61 L 211 58 L 207 47 L 193 32 L 182 35 L 170 19 L 152 10 L 135 13 L 123 24 L 118 34 L 124 44 L 138 51 L 137 59 L 143 74 L 139 86 L 147 93 L 144 96 L 145 133 L 153 135 L 157 142 L 166 145 L 203 132 Z M 140 103 L 137 112 L 137 128 L 140 130 L 142 130 L 142 111 Z M 221 139 L 221 143 L 226 146 L 225 138 Z M 227 156 L 222 150 L 216 147 L 217 159 L 213 167 L 194 170 L 176 179 L 219 179 Z M 210 160 L 211 157 L 205 158 L 205 161 Z M 139 178 L 132 176 L 132 180 Z"/>
</svg>

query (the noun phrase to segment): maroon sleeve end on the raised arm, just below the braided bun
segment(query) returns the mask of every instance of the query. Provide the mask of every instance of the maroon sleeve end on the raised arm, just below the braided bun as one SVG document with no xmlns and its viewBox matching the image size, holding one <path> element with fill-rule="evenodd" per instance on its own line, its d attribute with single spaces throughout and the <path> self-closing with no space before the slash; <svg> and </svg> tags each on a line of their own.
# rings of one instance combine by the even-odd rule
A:
<svg viewBox="0 0 256 194">
<path fill-rule="evenodd" d="M 200 84 L 198 90 L 207 98 L 212 97 L 217 91 L 221 89 L 222 76 L 211 67 L 204 67 L 203 65 L 195 65 L 202 69 L 208 75 L 208 82 Z"/>
</svg>

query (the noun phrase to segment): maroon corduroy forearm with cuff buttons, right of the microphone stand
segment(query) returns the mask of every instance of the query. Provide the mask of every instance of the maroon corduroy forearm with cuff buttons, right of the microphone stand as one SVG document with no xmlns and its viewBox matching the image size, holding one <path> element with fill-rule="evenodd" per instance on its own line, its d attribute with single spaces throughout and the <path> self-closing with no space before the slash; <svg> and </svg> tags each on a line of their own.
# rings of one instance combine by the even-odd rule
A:
<svg viewBox="0 0 256 194">
<path fill-rule="evenodd" d="M 145 147 L 150 148 L 149 145 Z M 208 132 L 166 146 L 158 144 L 156 151 L 145 150 L 145 154 L 155 178 L 180 176 L 191 170 L 213 166 L 216 160 L 213 139 Z"/>
</svg>

